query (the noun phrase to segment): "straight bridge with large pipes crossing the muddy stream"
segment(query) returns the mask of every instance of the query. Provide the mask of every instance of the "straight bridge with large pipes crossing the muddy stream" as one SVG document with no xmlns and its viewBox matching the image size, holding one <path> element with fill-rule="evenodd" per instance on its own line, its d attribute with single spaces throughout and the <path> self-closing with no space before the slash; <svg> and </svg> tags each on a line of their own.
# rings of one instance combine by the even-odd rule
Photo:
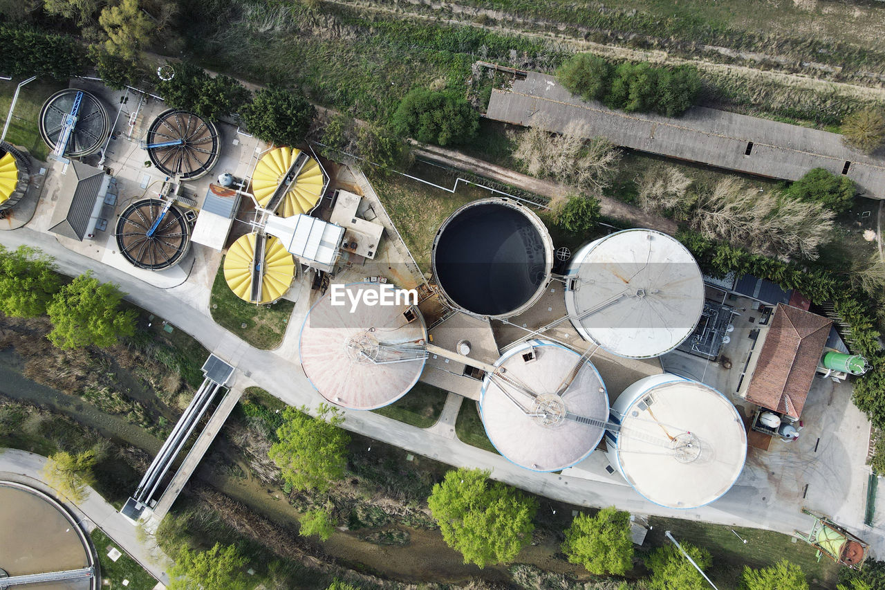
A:
<svg viewBox="0 0 885 590">
<path fill-rule="evenodd" d="M 184 410 L 181 419 L 175 423 L 173 431 L 169 434 L 169 438 L 165 440 L 163 446 L 160 447 L 159 453 L 154 457 L 154 461 L 150 463 L 150 467 L 145 472 L 142 481 L 135 488 L 135 493 L 127 500 L 126 504 L 120 510 L 123 516 L 127 516 L 133 521 L 137 521 L 145 508 L 155 508 L 154 514 L 157 515 L 157 509 L 160 505 L 165 506 L 162 515 L 172 506 L 172 502 L 181 491 L 181 487 L 187 482 L 191 472 L 196 468 L 196 464 L 203 457 L 206 449 L 215 438 L 221 425 L 227 419 L 227 415 L 239 400 L 242 390 L 235 394 L 227 393 L 227 385 L 230 383 L 234 375 L 234 367 L 222 361 L 214 354 L 210 354 L 203 365 L 204 381 L 194 394 L 194 399 L 190 401 L 188 408 Z M 165 480 L 166 474 L 172 469 L 176 458 L 181 454 L 183 448 L 187 445 L 190 435 L 196 429 L 196 425 L 205 415 L 206 411 L 212 406 L 216 394 L 224 391 L 227 395 L 219 403 L 213 412 L 209 422 L 201 431 L 196 439 L 194 446 L 191 448 L 185 460 L 181 463 L 181 467 L 175 472 L 173 484 L 167 485 L 161 490 L 161 485 Z M 200 450 L 202 449 L 202 450 Z M 196 458 L 196 461 L 193 461 Z M 188 469 L 186 469 L 186 467 Z M 182 481 L 183 478 L 183 481 Z M 176 489 L 177 488 L 177 489 Z M 165 496 L 175 489 L 172 501 L 164 502 Z M 157 500 L 158 493 L 162 495 Z"/>
</svg>

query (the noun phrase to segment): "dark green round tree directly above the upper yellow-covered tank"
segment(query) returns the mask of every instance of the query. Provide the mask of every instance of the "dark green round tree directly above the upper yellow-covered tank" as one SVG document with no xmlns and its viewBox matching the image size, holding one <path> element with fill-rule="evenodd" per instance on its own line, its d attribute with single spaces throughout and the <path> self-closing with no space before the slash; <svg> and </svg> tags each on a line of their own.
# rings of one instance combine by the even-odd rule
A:
<svg viewBox="0 0 885 590">
<path fill-rule="evenodd" d="M 240 114 L 250 133 L 277 145 L 296 145 L 304 140 L 314 108 L 299 94 L 268 86 L 255 93 Z"/>
</svg>

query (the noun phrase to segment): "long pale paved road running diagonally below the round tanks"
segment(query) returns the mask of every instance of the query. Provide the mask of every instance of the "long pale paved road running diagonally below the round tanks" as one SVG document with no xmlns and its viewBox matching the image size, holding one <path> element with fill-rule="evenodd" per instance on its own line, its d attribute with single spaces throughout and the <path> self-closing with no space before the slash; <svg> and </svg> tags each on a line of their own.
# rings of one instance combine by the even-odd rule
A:
<svg viewBox="0 0 885 590">
<path fill-rule="evenodd" d="M 127 299 L 185 330 L 210 351 L 235 365 L 240 370 L 238 385 L 256 384 L 292 406 L 315 408 L 322 401 L 298 364 L 295 340 L 300 321 L 292 322 L 296 325 L 289 330 L 279 349 L 258 350 L 213 322 L 206 293 L 189 287 L 187 283 L 169 290 L 154 287 L 71 252 L 59 245 L 55 237 L 32 229 L 0 232 L 0 244 L 7 247 L 34 246 L 54 256 L 59 270 L 65 274 L 78 275 L 92 269 L 100 280 L 118 283 L 123 291 L 129 293 Z M 296 314 L 299 308 L 306 305 L 306 299 L 303 297 L 299 300 Z M 422 430 L 372 412 L 348 410 L 344 415 L 343 426 L 350 431 L 450 465 L 491 470 L 492 477 L 496 479 L 558 501 L 590 507 L 614 505 L 638 514 L 766 528 L 788 534 L 795 529 L 809 528 L 812 522 L 799 512 L 800 507 L 778 503 L 773 490 L 742 485 L 741 480 L 719 501 L 709 506 L 676 510 L 643 499 L 617 474 L 611 477 L 611 481 L 606 481 L 535 473 L 518 467 L 504 457 L 466 445 L 457 438 L 444 436 L 439 431 Z M 595 455 L 598 454 L 591 455 L 591 459 Z M 596 458 L 596 461 L 599 460 L 604 461 Z"/>
</svg>

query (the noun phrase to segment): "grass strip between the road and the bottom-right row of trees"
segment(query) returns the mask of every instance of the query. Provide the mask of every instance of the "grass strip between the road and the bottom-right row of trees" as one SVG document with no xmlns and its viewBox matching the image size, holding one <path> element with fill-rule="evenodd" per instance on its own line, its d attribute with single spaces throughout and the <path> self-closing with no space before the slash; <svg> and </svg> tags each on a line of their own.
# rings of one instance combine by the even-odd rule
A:
<svg viewBox="0 0 885 590">
<path fill-rule="evenodd" d="M 650 519 L 650 524 L 653 528 L 645 542 L 652 547 L 668 543 L 664 532 L 670 531 L 676 540 L 689 541 L 709 550 L 713 555 L 713 563 L 707 573 L 722 590 L 738 587 L 743 566 L 766 567 L 781 559 L 787 559 L 801 567 L 814 590 L 835 587 L 840 566 L 827 558 L 818 562 L 816 552 L 810 545 L 801 540 L 794 543 L 789 535 L 735 527 L 735 532 L 747 540 L 743 543 L 732 532 L 732 527 L 728 526 L 657 516 Z"/>
</svg>

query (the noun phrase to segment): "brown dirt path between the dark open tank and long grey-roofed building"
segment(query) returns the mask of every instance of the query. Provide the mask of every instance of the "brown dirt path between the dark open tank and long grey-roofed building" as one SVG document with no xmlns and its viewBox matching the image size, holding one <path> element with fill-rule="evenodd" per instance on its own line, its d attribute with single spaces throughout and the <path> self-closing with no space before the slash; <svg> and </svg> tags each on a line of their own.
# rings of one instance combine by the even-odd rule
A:
<svg viewBox="0 0 885 590">
<path fill-rule="evenodd" d="M 534 192 L 536 195 L 550 198 L 551 203 L 565 198 L 569 192 L 573 192 L 573 189 L 565 184 L 519 174 L 519 172 L 467 156 L 459 151 L 447 150 L 435 145 L 415 147 L 412 151 L 417 158 L 429 159 L 445 166 L 462 168 L 496 182 L 518 186 L 529 192 Z M 630 206 L 608 197 L 599 197 L 599 204 L 605 217 L 628 221 L 637 227 L 658 229 L 658 231 L 663 231 L 670 235 L 676 233 L 677 228 L 674 221 L 663 219 L 657 215 L 643 213 L 638 207 Z"/>
</svg>

